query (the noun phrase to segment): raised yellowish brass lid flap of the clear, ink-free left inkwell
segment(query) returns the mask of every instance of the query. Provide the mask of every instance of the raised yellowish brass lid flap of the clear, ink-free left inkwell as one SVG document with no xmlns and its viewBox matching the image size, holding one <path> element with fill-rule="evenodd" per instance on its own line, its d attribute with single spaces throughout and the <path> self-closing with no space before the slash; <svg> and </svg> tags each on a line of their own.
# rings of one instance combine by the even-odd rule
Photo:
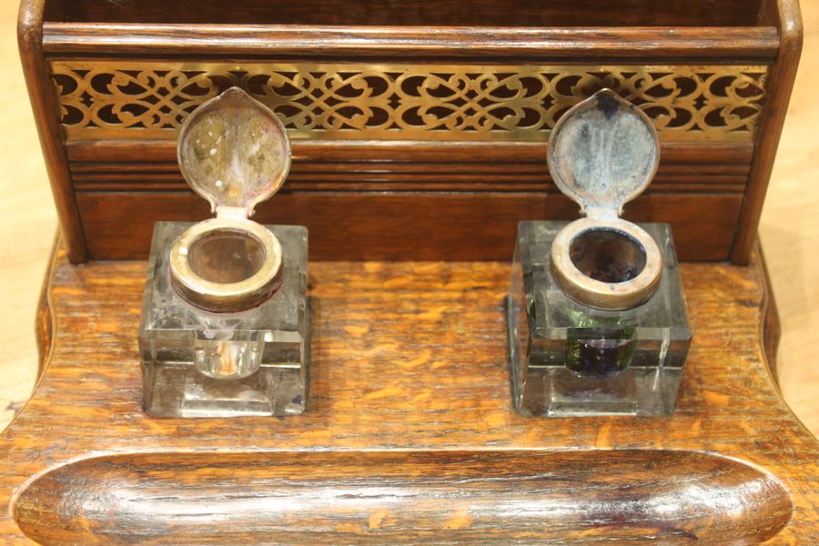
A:
<svg viewBox="0 0 819 546">
<path fill-rule="evenodd" d="M 287 178 L 290 144 L 276 114 L 232 87 L 187 117 L 177 158 L 188 186 L 217 216 L 249 217 Z"/>
</svg>

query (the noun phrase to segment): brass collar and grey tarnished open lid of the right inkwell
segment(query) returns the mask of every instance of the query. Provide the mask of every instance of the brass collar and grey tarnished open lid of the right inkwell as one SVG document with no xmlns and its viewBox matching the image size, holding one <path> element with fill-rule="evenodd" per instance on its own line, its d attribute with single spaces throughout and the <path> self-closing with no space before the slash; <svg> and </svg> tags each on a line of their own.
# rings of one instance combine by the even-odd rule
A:
<svg viewBox="0 0 819 546">
<path fill-rule="evenodd" d="M 551 272 L 564 294 L 606 310 L 652 297 L 662 273 L 660 248 L 620 215 L 659 163 L 652 121 L 609 89 L 561 116 L 549 140 L 549 171 L 586 216 L 563 227 L 551 245 Z"/>
</svg>

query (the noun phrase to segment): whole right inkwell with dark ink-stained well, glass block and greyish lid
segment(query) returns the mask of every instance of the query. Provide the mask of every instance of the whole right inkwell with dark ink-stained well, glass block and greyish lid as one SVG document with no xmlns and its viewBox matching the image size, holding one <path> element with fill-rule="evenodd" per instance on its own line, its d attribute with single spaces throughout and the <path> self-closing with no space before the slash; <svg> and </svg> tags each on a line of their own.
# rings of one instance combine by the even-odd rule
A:
<svg viewBox="0 0 819 546">
<path fill-rule="evenodd" d="M 608 89 L 554 127 L 551 177 L 585 217 L 518 226 L 507 324 L 521 415 L 674 410 L 691 330 L 671 227 L 620 217 L 659 160 L 651 120 Z"/>
</svg>

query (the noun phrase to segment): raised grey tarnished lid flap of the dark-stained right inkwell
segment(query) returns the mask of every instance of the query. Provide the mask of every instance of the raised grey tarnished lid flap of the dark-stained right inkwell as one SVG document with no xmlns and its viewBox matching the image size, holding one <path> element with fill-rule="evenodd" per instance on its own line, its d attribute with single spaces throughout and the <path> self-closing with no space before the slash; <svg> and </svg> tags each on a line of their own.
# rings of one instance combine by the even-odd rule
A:
<svg viewBox="0 0 819 546">
<path fill-rule="evenodd" d="M 549 172 L 588 217 L 619 217 L 660 164 L 652 121 L 610 89 L 571 107 L 549 139 Z"/>
</svg>

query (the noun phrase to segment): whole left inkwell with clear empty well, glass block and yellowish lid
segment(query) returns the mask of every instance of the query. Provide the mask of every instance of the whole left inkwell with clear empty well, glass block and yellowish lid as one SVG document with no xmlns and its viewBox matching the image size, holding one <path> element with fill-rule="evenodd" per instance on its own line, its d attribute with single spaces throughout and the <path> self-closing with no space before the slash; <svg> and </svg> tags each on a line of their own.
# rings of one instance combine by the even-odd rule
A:
<svg viewBox="0 0 819 546">
<path fill-rule="evenodd" d="M 179 134 L 179 167 L 216 217 L 157 222 L 139 351 L 155 417 L 292 415 L 308 394 L 308 231 L 249 217 L 284 183 L 287 132 L 234 87 Z"/>
</svg>

